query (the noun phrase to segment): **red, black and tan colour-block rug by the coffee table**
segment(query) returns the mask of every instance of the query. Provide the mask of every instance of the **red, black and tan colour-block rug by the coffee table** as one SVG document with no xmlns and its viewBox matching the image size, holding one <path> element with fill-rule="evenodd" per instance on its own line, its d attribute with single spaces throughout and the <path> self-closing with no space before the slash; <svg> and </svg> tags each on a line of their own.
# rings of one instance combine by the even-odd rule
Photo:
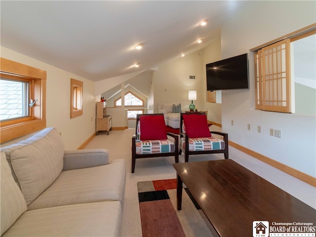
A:
<svg viewBox="0 0 316 237">
<path fill-rule="evenodd" d="M 143 237 L 212 237 L 189 192 L 183 192 L 182 210 L 176 209 L 176 188 L 176 179 L 137 183 Z"/>
</svg>

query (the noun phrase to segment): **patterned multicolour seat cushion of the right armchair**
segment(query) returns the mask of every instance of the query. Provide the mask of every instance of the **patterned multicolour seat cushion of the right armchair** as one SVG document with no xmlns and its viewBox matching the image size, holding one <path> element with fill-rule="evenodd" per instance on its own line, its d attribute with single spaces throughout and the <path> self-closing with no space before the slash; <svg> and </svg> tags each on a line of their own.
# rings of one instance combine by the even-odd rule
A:
<svg viewBox="0 0 316 237">
<path fill-rule="evenodd" d="M 185 149 L 185 138 L 180 139 L 180 146 Z M 224 150 L 225 142 L 219 137 L 189 138 L 189 151 Z"/>
</svg>

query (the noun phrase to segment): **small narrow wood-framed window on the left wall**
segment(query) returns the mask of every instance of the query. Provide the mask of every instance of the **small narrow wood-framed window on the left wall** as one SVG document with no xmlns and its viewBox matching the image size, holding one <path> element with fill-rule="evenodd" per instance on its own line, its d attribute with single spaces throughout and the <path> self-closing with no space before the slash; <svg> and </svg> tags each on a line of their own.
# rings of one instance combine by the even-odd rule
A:
<svg viewBox="0 0 316 237">
<path fill-rule="evenodd" d="M 70 79 L 70 118 L 76 118 L 83 114 L 83 82 Z"/>
</svg>

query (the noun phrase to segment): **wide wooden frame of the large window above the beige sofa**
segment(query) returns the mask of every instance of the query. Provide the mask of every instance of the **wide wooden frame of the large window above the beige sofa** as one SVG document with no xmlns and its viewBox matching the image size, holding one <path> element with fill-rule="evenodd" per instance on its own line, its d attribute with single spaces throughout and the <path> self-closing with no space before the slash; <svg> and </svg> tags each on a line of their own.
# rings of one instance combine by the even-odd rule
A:
<svg viewBox="0 0 316 237">
<path fill-rule="evenodd" d="M 26 118 L 0 122 L 0 143 L 6 142 L 46 127 L 46 71 L 0 58 L 1 78 L 30 81 L 32 99 L 37 99 Z"/>
</svg>

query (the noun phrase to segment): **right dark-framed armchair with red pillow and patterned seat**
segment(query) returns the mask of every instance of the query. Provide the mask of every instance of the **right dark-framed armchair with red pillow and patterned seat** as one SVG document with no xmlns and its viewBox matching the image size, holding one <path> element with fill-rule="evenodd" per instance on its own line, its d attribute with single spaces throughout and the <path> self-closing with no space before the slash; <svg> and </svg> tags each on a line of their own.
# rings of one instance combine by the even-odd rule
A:
<svg viewBox="0 0 316 237">
<path fill-rule="evenodd" d="M 228 134 L 209 131 L 205 113 L 186 113 L 180 115 L 180 150 L 184 152 L 185 162 L 189 155 L 223 153 L 228 159 Z M 221 137 L 214 137 L 218 134 Z"/>
</svg>

